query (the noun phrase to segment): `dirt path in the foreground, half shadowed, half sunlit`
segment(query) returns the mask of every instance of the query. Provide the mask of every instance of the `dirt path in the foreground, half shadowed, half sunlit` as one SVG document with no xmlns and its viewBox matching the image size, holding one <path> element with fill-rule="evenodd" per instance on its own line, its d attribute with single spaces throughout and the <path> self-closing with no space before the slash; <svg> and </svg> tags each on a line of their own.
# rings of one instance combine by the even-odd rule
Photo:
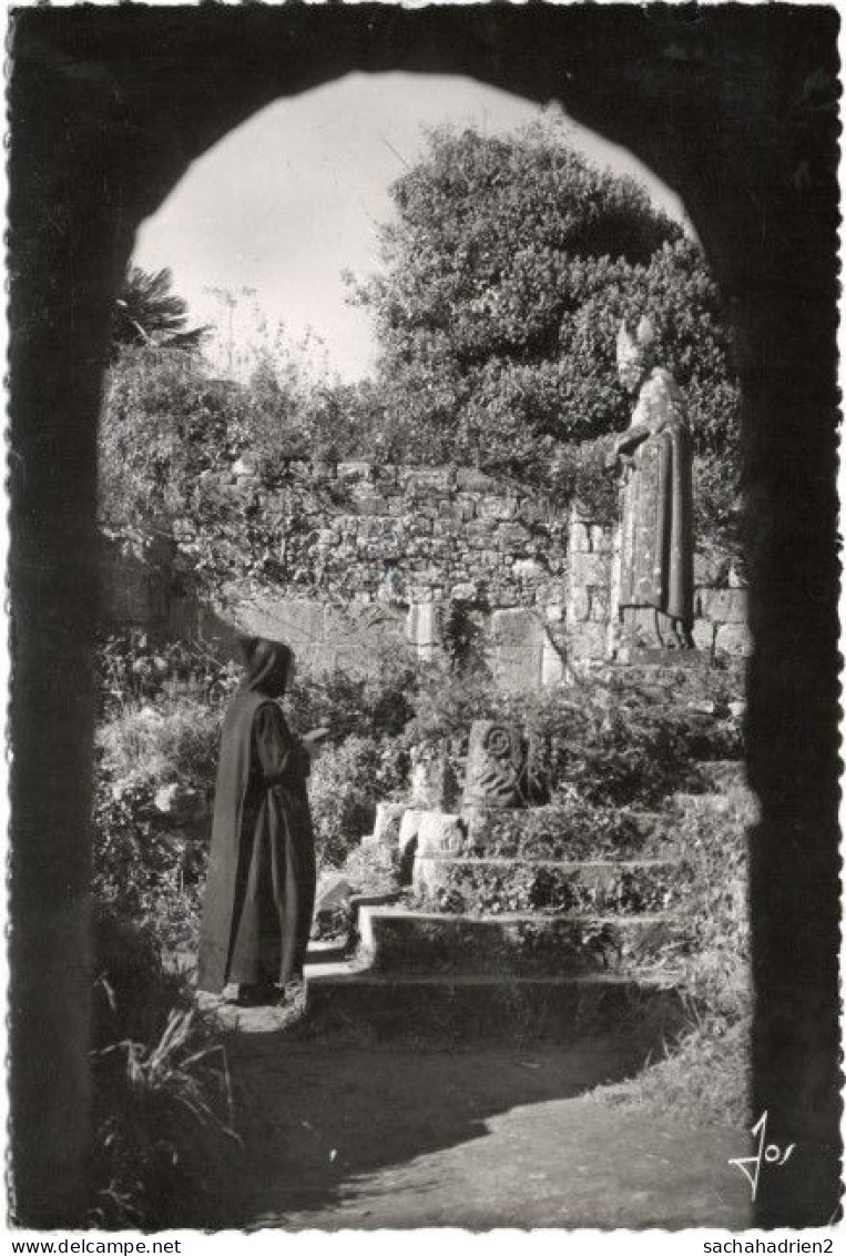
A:
<svg viewBox="0 0 846 1256">
<path fill-rule="evenodd" d="M 585 1094 L 610 1048 L 227 1045 L 249 1150 L 226 1225 L 286 1230 L 751 1225 L 738 1130 L 694 1130 Z"/>
</svg>

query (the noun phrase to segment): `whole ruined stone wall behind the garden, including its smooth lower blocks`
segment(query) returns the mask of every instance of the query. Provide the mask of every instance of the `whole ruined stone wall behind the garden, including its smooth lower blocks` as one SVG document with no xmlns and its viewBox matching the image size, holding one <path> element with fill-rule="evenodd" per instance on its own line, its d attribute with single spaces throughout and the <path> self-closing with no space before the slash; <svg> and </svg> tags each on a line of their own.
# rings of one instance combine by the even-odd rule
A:
<svg viewBox="0 0 846 1256">
<path fill-rule="evenodd" d="M 320 667 L 360 668 L 392 639 L 433 658 L 458 602 L 503 683 L 537 687 L 560 676 L 567 525 L 525 485 L 462 467 L 291 462 L 272 491 L 244 463 L 205 477 L 200 490 L 270 525 L 276 589 L 233 589 L 203 605 L 161 556 L 146 564 L 114 539 L 103 563 L 108 620 L 226 651 L 241 632 L 281 637 Z"/>
</svg>

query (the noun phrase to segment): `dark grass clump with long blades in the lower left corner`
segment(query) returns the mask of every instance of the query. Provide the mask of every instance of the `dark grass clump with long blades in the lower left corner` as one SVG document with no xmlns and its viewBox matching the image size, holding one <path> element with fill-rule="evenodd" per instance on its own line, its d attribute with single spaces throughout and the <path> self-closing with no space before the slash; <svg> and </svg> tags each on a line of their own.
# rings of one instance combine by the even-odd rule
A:
<svg viewBox="0 0 846 1256">
<path fill-rule="evenodd" d="M 213 1222 L 238 1152 L 226 1055 L 164 972 L 149 928 L 100 909 L 95 928 L 88 1225 Z"/>
</svg>

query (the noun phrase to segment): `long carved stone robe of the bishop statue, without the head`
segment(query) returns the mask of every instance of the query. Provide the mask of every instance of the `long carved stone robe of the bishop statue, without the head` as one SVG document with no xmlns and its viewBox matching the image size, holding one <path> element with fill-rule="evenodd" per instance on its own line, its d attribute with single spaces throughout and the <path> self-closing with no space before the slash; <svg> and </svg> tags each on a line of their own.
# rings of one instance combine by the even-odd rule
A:
<svg viewBox="0 0 846 1256">
<path fill-rule="evenodd" d="M 628 436 L 628 433 L 626 433 Z M 651 608 L 693 624 L 693 457 L 673 377 L 656 368 L 644 383 L 621 451 L 620 610 Z"/>
</svg>

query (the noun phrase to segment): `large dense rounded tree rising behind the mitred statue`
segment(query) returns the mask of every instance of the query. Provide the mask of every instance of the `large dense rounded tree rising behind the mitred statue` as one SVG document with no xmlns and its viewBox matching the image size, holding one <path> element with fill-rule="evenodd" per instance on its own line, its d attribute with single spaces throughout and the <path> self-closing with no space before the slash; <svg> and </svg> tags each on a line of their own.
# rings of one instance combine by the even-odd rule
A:
<svg viewBox="0 0 846 1256">
<path fill-rule="evenodd" d="M 596 170 L 555 124 L 510 138 L 437 129 L 392 196 L 383 270 L 349 283 L 375 320 L 395 456 L 474 462 L 564 494 L 592 486 L 608 509 L 601 457 L 575 451 L 628 423 L 616 330 L 645 310 L 700 458 L 733 456 L 719 294 L 699 247 L 638 183 Z M 733 486 L 724 468 L 712 481 L 723 495 L 712 514 L 726 516 Z"/>
</svg>

